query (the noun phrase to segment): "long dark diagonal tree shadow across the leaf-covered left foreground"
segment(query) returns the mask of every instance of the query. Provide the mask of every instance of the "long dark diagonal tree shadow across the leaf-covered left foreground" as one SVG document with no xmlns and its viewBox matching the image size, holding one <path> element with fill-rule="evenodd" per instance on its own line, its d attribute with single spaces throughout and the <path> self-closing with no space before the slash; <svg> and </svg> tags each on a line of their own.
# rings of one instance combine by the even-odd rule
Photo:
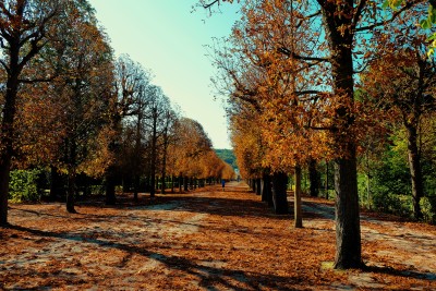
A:
<svg viewBox="0 0 436 291">
<path fill-rule="evenodd" d="M 216 290 L 214 286 L 223 287 L 229 290 L 259 290 L 272 289 L 272 290 L 302 290 L 305 289 L 303 286 L 311 283 L 301 276 L 275 276 L 270 274 L 262 274 L 258 271 L 242 271 L 237 269 L 230 269 L 226 267 L 214 267 L 208 265 L 202 265 L 201 263 L 193 262 L 182 256 L 168 256 L 158 252 L 152 252 L 144 247 L 125 243 L 114 243 L 102 241 L 99 239 L 87 239 L 77 234 L 71 233 L 58 233 L 51 231 L 43 231 L 37 229 L 29 229 L 19 226 L 10 226 L 10 229 L 27 232 L 33 235 L 44 238 L 56 238 L 70 240 L 75 242 L 94 243 L 100 247 L 117 248 L 124 251 L 128 256 L 117 267 L 126 266 L 133 255 L 141 255 L 149 259 L 158 260 L 164 264 L 167 268 L 177 269 L 187 275 L 195 276 L 198 279 L 198 286 L 206 288 L 207 290 Z M 241 283 L 245 287 L 241 287 Z M 302 288 L 295 289 L 289 286 L 301 286 Z"/>
</svg>

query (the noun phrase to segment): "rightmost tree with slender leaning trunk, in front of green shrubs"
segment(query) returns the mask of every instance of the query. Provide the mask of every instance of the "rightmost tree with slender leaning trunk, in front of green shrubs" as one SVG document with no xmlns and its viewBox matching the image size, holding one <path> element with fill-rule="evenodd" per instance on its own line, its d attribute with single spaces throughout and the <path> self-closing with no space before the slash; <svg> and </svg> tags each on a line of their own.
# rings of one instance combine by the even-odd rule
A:
<svg viewBox="0 0 436 291">
<path fill-rule="evenodd" d="M 402 28 L 402 36 L 391 39 L 389 32 L 399 28 Z M 407 131 L 413 213 L 414 218 L 421 220 L 424 184 L 420 131 L 423 118 L 436 108 L 435 59 L 427 57 L 426 37 L 416 32 L 413 20 L 400 19 L 391 29 L 378 35 L 377 59 L 364 74 L 364 88 L 378 106 L 386 111 L 395 110 L 397 120 Z"/>
</svg>

